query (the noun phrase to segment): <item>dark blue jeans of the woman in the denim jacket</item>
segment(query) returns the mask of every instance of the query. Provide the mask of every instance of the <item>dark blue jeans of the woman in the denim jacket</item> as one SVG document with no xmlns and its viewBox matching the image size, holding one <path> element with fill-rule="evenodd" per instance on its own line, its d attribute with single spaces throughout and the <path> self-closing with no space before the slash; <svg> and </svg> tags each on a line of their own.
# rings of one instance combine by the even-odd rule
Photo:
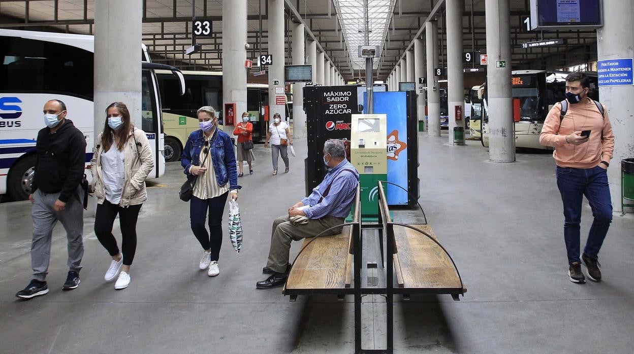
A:
<svg viewBox="0 0 634 354">
<path fill-rule="evenodd" d="M 190 222 L 191 231 L 200 242 L 203 250 L 211 250 L 211 260 L 217 261 L 220 256 L 220 246 L 223 245 L 223 213 L 224 203 L 229 192 L 216 198 L 199 199 L 191 196 Z M 209 232 L 205 228 L 205 219 L 209 210 Z"/>
</svg>

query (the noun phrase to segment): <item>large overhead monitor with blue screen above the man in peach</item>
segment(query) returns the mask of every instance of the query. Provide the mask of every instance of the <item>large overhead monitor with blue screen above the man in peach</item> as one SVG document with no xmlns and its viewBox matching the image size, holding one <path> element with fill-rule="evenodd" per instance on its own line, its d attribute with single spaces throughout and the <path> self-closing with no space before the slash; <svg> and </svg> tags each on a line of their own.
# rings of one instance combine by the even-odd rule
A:
<svg viewBox="0 0 634 354">
<path fill-rule="evenodd" d="M 597 28 L 602 0 L 531 0 L 531 29 Z"/>
</svg>

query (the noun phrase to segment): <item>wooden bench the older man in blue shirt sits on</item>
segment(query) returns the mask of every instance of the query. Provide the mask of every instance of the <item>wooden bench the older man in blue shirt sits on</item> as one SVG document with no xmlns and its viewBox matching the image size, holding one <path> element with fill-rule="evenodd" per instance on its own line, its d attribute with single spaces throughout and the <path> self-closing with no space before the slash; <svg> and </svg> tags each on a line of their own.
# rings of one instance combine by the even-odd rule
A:
<svg viewBox="0 0 634 354">
<path fill-rule="evenodd" d="M 357 186 L 353 223 L 340 234 L 307 237 L 288 273 L 282 293 L 295 301 L 300 294 L 352 294 L 353 232 L 361 229 L 361 189 Z"/>
</svg>

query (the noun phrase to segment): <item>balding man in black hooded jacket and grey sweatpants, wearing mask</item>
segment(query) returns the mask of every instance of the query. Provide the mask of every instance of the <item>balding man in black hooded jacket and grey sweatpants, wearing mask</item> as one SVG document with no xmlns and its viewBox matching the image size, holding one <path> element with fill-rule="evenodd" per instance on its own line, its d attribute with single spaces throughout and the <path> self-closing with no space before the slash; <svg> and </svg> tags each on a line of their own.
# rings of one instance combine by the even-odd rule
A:
<svg viewBox="0 0 634 354">
<path fill-rule="evenodd" d="M 51 234 L 58 220 L 68 239 L 69 271 L 62 289 L 75 289 L 79 285 L 84 255 L 81 182 L 86 165 L 86 139 L 66 115 L 62 101 L 51 99 L 44 104 L 46 127 L 37 133 L 35 177 L 29 195 L 33 203 L 31 265 L 34 279 L 18 291 L 18 298 L 30 299 L 48 293 L 45 279 L 51 257 Z"/>
</svg>

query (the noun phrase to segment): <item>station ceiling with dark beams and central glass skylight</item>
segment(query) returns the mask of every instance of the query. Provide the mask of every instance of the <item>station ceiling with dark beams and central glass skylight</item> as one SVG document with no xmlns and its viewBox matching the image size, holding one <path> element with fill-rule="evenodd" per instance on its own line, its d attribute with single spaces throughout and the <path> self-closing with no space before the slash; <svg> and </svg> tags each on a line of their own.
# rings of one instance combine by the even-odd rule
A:
<svg viewBox="0 0 634 354">
<path fill-rule="evenodd" d="M 212 23 L 210 36 L 197 39 L 202 53 L 191 56 L 184 53 L 191 46 L 192 0 L 142 0 L 143 42 L 155 61 L 183 70 L 222 70 L 223 1 L 194 1 L 197 19 Z M 464 0 L 465 52 L 486 53 L 484 2 Z M 356 58 L 356 46 L 365 44 L 359 43 L 365 41 L 363 4 L 363 0 L 285 0 L 287 63 L 290 64 L 290 24 L 304 22 L 306 37 L 318 41 L 318 48 L 323 49 L 344 79 L 365 77 L 365 66 Z M 413 49 L 412 41 L 417 35 L 425 38 L 422 28 L 426 20 L 439 20 L 440 65 L 446 63 L 444 6 L 445 0 L 368 0 L 370 44 L 384 45 L 374 66 L 378 80 L 387 77 L 407 49 Z M 510 0 L 510 15 L 514 68 L 560 68 L 596 60 L 595 30 L 526 30 L 524 20 L 530 15 L 529 0 Z M 268 0 L 247 0 L 246 24 L 250 44 L 247 56 L 255 59 L 268 49 Z M 0 0 L 0 27 L 93 34 L 94 0 Z M 536 49 L 521 46 L 522 42 L 555 38 L 566 41 Z"/>
</svg>

